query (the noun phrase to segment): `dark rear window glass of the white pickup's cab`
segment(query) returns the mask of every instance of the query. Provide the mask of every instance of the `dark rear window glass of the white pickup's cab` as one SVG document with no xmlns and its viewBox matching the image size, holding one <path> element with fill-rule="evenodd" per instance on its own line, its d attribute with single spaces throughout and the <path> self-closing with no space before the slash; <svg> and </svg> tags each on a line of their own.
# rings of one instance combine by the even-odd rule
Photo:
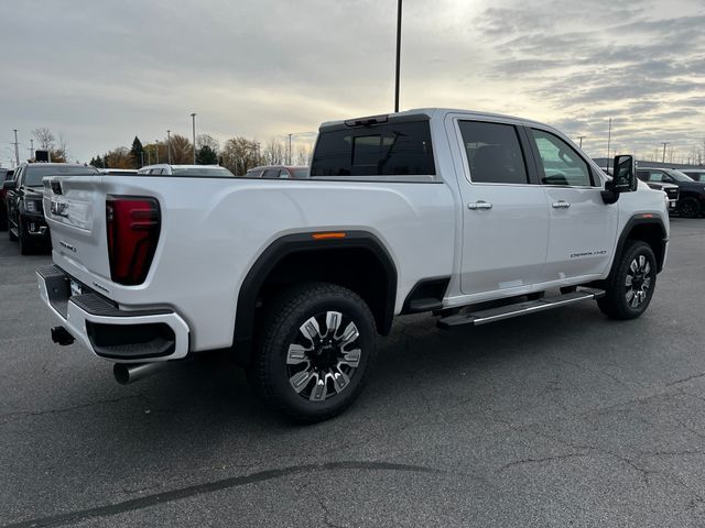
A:
<svg viewBox="0 0 705 528">
<path fill-rule="evenodd" d="M 429 121 L 322 132 L 311 176 L 435 175 Z"/>
</svg>

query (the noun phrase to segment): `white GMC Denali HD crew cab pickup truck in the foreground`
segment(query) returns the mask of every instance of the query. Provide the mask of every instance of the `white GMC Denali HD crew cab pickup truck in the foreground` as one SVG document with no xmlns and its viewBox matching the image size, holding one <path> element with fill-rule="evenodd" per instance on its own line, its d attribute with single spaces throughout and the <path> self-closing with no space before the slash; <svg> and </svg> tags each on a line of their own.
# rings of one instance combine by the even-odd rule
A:
<svg viewBox="0 0 705 528">
<path fill-rule="evenodd" d="M 322 420 L 358 396 L 397 316 L 452 328 L 588 299 L 640 316 L 668 201 L 631 156 L 615 167 L 545 124 L 422 109 L 324 123 L 307 179 L 46 178 L 39 289 L 54 341 L 121 383 L 228 350 L 275 409 Z"/>
</svg>

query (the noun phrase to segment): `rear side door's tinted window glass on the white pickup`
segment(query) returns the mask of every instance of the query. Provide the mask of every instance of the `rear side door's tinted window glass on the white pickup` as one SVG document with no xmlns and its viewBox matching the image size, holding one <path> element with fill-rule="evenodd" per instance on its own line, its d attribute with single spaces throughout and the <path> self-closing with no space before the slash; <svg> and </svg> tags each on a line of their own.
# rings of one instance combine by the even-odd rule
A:
<svg viewBox="0 0 705 528">
<path fill-rule="evenodd" d="M 470 179 L 475 184 L 528 184 L 527 165 L 511 124 L 460 121 Z"/>
</svg>

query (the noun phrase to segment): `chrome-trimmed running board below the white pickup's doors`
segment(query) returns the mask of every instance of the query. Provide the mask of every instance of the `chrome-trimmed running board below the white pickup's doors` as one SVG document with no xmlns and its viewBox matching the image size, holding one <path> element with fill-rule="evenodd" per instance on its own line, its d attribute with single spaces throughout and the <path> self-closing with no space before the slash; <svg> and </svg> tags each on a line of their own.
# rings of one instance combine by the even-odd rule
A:
<svg viewBox="0 0 705 528">
<path fill-rule="evenodd" d="M 499 308 L 490 308 L 487 310 L 470 311 L 466 314 L 456 314 L 454 316 L 438 319 L 438 328 L 451 329 L 463 324 L 487 324 L 489 322 L 501 321 L 512 317 L 525 316 L 538 311 L 551 310 L 562 306 L 581 302 L 583 300 L 599 299 L 605 295 L 605 290 L 596 288 L 578 288 L 577 292 L 571 294 L 556 295 L 553 297 L 544 297 L 539 300 L 527 300 L 517 302 L 516 305 L 502 306 Z"/>
</svg>

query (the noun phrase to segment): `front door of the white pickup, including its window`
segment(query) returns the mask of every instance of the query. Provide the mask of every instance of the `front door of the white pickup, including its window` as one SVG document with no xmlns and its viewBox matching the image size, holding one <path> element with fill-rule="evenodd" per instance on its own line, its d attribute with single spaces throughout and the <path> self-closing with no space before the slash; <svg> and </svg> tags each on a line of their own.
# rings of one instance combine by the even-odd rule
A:
<svg viewBox="0 0 705 528">
<path fill-rule="evenodd" d="M 541 128 L 527 134 L 551 215 L 546 279 L 603 274 L 615 246 L 618 206 L 603 201 L 601 178 L 568 142 Z"/>
</svg>

